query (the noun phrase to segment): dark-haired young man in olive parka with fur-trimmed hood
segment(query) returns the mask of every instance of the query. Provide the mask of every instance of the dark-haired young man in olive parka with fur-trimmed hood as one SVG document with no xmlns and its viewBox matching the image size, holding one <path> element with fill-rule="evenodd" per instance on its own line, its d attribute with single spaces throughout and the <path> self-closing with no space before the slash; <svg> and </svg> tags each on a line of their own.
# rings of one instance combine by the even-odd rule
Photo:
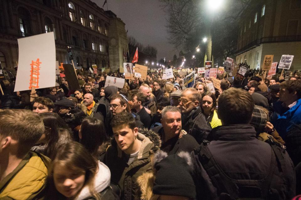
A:
<svg viewBox="0 0 301 200">
<path fill-rule="evenodd" d="M 160 137 L 146 129 L 139 130 L 139 133 L 135 119 L 128 112 L 116 114 L 111 126 L 114 139 L 104 159 L 112 174 L 111 182 L 120 187 L 121 199 L 140 199 L 137 178 L 152 170 L 151 159 L 160 149 Z"/>
</svg>

